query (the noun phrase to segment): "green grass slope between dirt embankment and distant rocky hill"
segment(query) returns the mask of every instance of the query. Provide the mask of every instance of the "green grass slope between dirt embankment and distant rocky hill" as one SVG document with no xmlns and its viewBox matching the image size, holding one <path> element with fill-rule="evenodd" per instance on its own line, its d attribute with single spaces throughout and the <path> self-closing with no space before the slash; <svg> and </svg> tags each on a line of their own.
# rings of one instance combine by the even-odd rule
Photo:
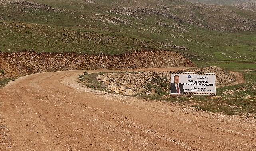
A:
<svg viewBox="0 0 256 151">
<path fill-rule="evenodd" d="M 110 4 L 130 7 L 133 6 L 132 1 L 127 4 L 120 1 L 96 1 L 93 4 L 79 0 L 33 2 L 46 4 L 53 10 L 36 10 L 16 4 L 0 6 L 0 13 L 8 14 L 2 15 L 4 21 L 0 22 L 0 52 L 32 50 L 38 53 L 75 52 L 114 55 L 135 50 L 161 49 L 193 54 L 188 55 L 192 61 L 200 59 L 256 62 L 255 32 L 213 31 L 179 23 L 157 14 L 141 15 L 142 19 L 137 19 L 109 12 L 111 8 L 115 8 L 115 5 Z M 191 11 L 182 6 L 183 4 L 175 7 L 172 7 L 172 4 L 176 2 L 166 3 L 172 10 L 171 14 L 184 14 Z M 154 1 L 150 1 L 150 5 L 164 12 L 163 8 Z M 232 7 L 226 7 L 226 9 L 236 10 Z M 204 19 L 202 14 L 197 12 L 198 10 L 192 11 L 199 18 Z M 242 16 L 253 16 L 242 10 L 238 13 Z M 117 24 L 109 23 L 107 20 Z M 157 22 L 165 25 L 159 25 Z M 181 28 L 187 31 L 182 31 Z M 161 43 L 183 46 L 188 50 L 165 47 Z M 203 63 L 198 64 L 203 65 Z"/>
</svg>

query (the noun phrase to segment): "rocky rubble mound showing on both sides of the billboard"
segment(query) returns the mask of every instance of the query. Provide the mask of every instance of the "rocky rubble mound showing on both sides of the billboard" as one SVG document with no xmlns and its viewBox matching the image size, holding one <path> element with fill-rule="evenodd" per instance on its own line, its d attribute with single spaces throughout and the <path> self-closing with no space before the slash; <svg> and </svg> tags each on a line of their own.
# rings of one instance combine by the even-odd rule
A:
<svg viewBox="0 0 256 151">
<path fill-rule="evenodd" d="M 235 77 L 225 70 L 216 66 L 197 68 L 184 72 L 215 73 L 216 85 L 223 85 L 235 81 Z M 171 74 L 170 72 L 126 72 L 126 73 L 107 73 L 98 76 L 98 80 L 107 85 L 109 90 L 115 93 L 123 93 L 131 89 L 136 93 L 154 94 L 161 87 L 163 91 L 170 91 Z M 168 84 L 165 84 L 168 83 Z"/>
</svg>

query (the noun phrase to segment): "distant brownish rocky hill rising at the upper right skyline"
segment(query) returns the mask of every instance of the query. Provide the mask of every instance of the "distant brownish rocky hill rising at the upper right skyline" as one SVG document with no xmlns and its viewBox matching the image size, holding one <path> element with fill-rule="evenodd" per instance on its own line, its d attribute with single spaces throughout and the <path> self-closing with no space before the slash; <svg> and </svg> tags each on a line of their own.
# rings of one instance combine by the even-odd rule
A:
<svg viewBox="0 0 256 151">
<path fill-rule="evenodd" d="M 167 5 L 159 2 L 158 7 L 153 4 L 141 4 L 112 8 L 109 12 L 137 19 L 158 15 L 179 23 L 189 23 L 212 30 L 255 31 L 255 4 L 256 2 L 236 4 L 232 8 L 211 4 Z M 242 15 L 235 8 L 251 11 L 252 14 L 248 14 L 250 17 Z"/>
</svg>

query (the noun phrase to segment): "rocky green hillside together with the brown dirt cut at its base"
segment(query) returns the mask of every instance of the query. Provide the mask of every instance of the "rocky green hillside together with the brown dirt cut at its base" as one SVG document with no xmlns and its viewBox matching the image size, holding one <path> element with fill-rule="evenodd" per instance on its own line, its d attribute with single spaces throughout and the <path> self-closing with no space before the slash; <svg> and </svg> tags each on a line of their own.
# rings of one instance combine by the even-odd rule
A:
<svg viewBox="0 0 256 151">
<path fill-rule="evenodd" d="M 233 31 L 253 35 L 255 13 L 254 4 L 185 0 L 1 0 L 0 78 L 59 70 L 194 66 L 187 58 L 216 60 L 215 54 L 230 54 L 230 45 L 248 46 L 244 55 L 254 51 L 253 41 L 242 41 L 244 46 L 236 34 L 227 38 L 231 42 L 218 39 Z"/>
</svg>

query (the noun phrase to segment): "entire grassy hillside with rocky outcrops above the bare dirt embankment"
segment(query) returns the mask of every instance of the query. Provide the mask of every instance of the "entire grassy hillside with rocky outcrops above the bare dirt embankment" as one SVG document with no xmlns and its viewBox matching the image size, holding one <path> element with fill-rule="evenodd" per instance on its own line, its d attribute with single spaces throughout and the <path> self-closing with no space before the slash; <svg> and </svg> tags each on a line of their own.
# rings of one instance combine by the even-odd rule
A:
<svg viewBox="0 0 256 151">
<path fill-rule="evenodd" d="M 234 70 L 252 69 L 255 16 L 250 9 L 185 0 L 4 0 L 0 51 L 113 55 L 172 50 L 198 66 L 223 62 L 220 67 L 235 63 Z"/>
</svg>

